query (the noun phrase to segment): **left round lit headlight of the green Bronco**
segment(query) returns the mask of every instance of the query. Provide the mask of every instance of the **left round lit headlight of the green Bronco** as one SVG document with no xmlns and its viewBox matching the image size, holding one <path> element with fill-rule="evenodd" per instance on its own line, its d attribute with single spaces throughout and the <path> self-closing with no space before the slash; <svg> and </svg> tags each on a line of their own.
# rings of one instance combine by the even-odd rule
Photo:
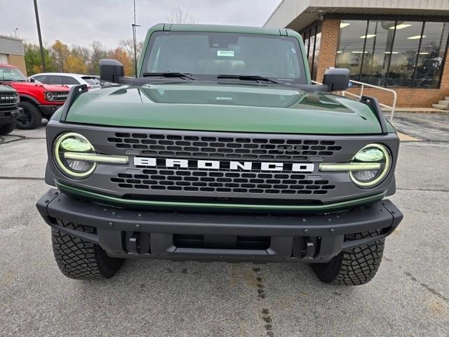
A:
<svg viewBox="0 0 449 337">
<path fill-rule="evenodd" d="M 62 173 L 65 173 L 71 178 L 86 178 L 95 170 L 95 166 L 97 166 L 95 161 L 69 159 L 69 156 L 65 155 L 66 152 L 76 152 L 79 154 L 95 153 L 95 149 L 86 137 L 79 133 L 63 133 L 55 140 L 53 157 Z"/>
</svg>

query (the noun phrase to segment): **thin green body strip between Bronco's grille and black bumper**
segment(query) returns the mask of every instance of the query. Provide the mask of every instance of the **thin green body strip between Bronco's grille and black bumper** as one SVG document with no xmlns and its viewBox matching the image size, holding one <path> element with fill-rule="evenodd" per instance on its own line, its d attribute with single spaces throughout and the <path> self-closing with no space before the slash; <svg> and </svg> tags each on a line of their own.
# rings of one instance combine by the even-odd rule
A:
<svg viewBox="0 0 449 337">
<path fill-rule="evenodd" d="M 366 204 L 381 200 L 385 194 L 375 194 L 370 197 L 363 197 L 349 201 L 337 202 L 327 205 L 269 205 L 269 204 L 213 204 L 205 202 L 177 202 L 177 201 L 147 201 L 147 200 L 130 200 L 111 197 L 109 195 L 96 192 L 81 190 L 76 187 L 57 183 L 56 186 L 63 192 L 69 192 L 81 197 L 88 197 L 98 202 L 107 202 L 116 206 L 134 206 L 149 209 L 171 209 L 184 211 L 283 211 L 283 212 L 323 212 L 333 211 L 337 209 L 346 209 L 349 207 Z"/>
</svg>

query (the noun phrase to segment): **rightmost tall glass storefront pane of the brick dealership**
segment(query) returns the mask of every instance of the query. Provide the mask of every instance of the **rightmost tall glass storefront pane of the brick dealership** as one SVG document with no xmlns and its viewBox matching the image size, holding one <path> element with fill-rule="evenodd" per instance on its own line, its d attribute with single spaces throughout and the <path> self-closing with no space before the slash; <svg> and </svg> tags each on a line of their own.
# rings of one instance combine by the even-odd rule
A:
<svg viewBox="0 0 449 337">
<path fill-rule="evenodd" d="M 448 22 L 425 23 L 413 86 L 438 87 L 448 32 Z"/>
</svg>

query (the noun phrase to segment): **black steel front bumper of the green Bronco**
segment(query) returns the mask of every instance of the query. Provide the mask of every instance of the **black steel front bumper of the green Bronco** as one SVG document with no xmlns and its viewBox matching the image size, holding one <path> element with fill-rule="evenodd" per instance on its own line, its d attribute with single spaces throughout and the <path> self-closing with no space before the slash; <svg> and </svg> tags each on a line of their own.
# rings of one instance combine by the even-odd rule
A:
<svg viewBox="0 0 449 337">
<path fill-rule="evenodd" d="M 387 237 L 403 218 L 389 200 L 344 213 L 242 215 L 117 209 L 55 189 L 36 206 L 51 227 L 121 258 L 326 262 L 340 251 Z M 69 223 L 92 229 L 73 230 Z M 347 237 L 376 230 L 375 237 Z"/>
</svg>

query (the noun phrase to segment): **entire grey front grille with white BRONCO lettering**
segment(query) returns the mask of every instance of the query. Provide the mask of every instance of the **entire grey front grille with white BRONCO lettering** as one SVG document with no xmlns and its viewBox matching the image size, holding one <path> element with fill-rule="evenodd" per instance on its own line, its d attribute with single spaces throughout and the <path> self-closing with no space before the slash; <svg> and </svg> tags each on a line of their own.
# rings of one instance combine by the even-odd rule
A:
<svg viewBox="0 0 449 337">
<path fill-rule="evenodd" d="M 67 131 L 74 131 L 73 126 L 51 124 L 48 138 Z M 81 124 L 75 131 L 88 138 L 98 153 L 126 156 L 128 164 L 99 163 L 91 176 L 80 180 L 69 180 L 54 169 L 58 182 L 112 197 L 150 201 L 335 203 L 384 192 L 391 179 L 365 190 L 354 185 L 347 172 L 320 171 L 321 163 L 351 161 L 370 143 L 397 151 L 393 134 L 238 133 Z"/>
</svg>

